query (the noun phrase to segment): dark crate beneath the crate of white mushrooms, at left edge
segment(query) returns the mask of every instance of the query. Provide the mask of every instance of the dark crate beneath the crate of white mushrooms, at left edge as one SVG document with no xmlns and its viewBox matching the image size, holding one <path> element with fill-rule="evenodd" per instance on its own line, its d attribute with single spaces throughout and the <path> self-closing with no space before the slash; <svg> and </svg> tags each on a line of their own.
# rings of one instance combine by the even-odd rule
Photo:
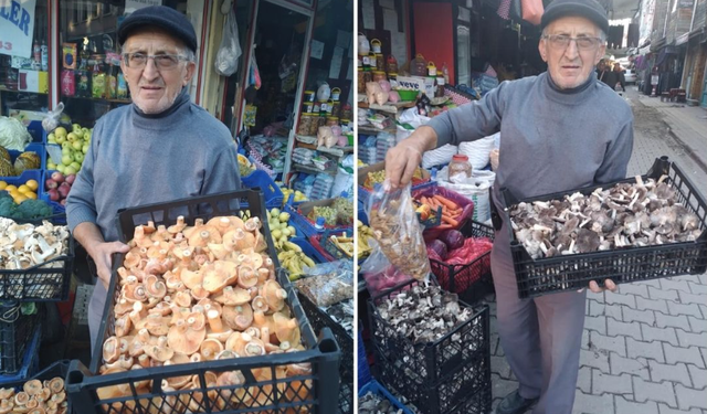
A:
<svg viewBox="0 0 707 414">
<path fill-rule="evenodd" d="M 32 343 L 36 326 L 41 320 L 41 306 L 24 315 L 22 307 L 31 304 L 0 302 L 0 374 L 12 374 L 22 369 L 24 350 Z"/>
</svg>

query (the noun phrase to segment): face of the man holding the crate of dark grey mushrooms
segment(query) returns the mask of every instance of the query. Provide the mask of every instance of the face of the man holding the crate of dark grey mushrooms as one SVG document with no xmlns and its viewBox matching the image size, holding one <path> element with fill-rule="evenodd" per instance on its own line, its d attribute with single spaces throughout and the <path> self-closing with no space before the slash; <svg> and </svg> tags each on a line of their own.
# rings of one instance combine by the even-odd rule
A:
<svg viewBox="0 0 707 414">
<path fill-rule="evenodd" d="M 590 20 L 580 17 L 560 18 L 546 28 L 547 38 L 540 40 L 540 56 L 548 64 L 548 72 L 561 89 L 577 87 L 593 73 L 594 66 L 604 55 L 606 45 L 599 39 L 600 29 Z M 588 38 L 569 41 L 567 38 Z M 578 44 L 579 43 L 579 44 Z"/>
</svg>

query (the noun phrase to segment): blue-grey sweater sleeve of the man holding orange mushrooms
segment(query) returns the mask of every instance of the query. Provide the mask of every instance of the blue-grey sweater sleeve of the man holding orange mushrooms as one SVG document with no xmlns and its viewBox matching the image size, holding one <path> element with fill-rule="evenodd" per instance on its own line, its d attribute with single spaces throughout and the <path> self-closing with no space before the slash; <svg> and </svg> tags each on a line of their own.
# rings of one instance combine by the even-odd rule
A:
<svg viewBox="0 0 707 414">
<path fill-rule="evenodd" d="M 86 152 L 81 170 L 76 174 L 76 179 L 66 198 L 66 222 L 68 224 L 68 231 L 72 233 L 74 229 L 83 222 L 97 224 L 98 214 L 96 212 L 96 200 L 93 193 L 93 170 L 102 131 L 103 123 L 98 121 L 92 134 L 88 152 Z"/>
</svg>

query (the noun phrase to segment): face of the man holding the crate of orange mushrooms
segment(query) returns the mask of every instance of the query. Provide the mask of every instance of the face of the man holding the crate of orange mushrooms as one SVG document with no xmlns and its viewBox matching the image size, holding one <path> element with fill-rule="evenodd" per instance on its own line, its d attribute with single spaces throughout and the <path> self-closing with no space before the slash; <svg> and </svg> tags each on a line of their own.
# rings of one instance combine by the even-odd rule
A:
<svg viewBox="0 0 707 414">
<path fill-rule="evenodd" d="M 140 53 L 182 56 L 173 67 L 165 67 L 168 66 L 161 64 L 165 59 L 159 59 L 160 63 L 157 64 L 154 59 L 147 59 L 144 65 L 126 64 L 126 59 L 122 60 L 120 68 L 130 88 L 133 103 L 145 114 L 159 114 L 169 108 L 181 88 L 191 81 L 196 64 L 183 60 L 184 50 L 181 41 L 157 29 L 136 31 L 126 40 L 123 45 L 124 55 Z M 135 61 L 135 59 L 130 60 L 130 62 Z"/>
</svg>

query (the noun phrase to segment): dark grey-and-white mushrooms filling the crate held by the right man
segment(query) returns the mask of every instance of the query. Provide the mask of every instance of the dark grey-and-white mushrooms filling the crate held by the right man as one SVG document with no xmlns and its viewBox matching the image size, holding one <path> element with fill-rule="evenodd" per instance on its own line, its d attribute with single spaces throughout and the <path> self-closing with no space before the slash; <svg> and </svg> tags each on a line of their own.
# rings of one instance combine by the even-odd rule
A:
<svg viewBox="0 0 707 414">
<path fill-rule="evenodd" d="M 513 230 L 532 258 L 693 242 L 704 229 L 666 178 L 518 203 L 510 209 Z"/>
</svg>

